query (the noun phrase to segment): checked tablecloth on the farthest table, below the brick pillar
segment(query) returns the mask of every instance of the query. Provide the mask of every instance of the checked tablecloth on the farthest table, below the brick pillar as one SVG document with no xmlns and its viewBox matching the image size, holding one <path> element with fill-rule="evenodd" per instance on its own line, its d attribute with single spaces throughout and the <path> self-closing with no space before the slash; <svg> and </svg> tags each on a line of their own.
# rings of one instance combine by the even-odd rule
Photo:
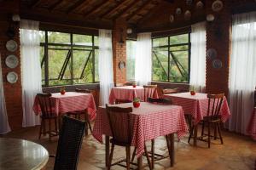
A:
<svg viewBox="0 0 256 170">
<path fill-rule="evenodd" d="M 139 98 L 144 100 L 144 88 L 137 86 L 133 88 L 132 86 L 115 87 L 111 89 L 109 94 L 108 102 L 109 104 L 114 103 L 115 99 L 129 99 Z M 154 92 L 154 98 L 158 98 L 157 90 Z"/>
</svg>

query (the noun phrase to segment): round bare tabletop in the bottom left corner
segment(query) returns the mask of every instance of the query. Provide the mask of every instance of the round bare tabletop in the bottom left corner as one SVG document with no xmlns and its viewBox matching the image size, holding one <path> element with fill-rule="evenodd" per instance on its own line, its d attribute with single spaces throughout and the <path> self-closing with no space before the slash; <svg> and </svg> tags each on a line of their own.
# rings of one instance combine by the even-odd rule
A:
<svg viewBox="0 0 256 170">
<path fill-rule="evenodd" d="M 42 169 L 49 159 L 41 144 L 24 140 L 0 138 L 0 169 Z"/>
</svg>

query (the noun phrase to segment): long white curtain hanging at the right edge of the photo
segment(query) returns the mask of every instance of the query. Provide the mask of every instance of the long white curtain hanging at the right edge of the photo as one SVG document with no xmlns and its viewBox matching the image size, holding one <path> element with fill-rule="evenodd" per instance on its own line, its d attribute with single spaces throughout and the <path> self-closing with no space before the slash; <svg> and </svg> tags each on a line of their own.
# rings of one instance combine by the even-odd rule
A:
<svg viewBox="0 0 256 170">
<path fill-rule="evenodd" d="M 232 23 L 230 131 L 246 133 L 256 85 L 256 13 L 237 14 Z"/>
</svg>

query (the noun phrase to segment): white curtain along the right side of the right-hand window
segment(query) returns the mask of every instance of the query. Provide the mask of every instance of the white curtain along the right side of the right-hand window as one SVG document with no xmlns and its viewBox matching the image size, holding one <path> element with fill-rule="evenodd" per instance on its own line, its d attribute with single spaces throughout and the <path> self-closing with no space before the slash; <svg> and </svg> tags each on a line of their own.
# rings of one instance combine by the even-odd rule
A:
<svg viewBox="0 0 256 170">
<path fill-rule="evenodd" d="M 191 59 L 189 85 L 195 91 L 204 92 L 206 87 L 206 23 L 191 26 Z"/>
</svg>

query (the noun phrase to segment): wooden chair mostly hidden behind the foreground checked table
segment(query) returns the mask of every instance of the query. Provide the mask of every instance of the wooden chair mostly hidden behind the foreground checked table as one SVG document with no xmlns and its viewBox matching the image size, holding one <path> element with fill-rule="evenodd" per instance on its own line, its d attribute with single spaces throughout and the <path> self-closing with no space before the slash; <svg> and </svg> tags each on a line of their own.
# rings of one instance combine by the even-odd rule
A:
<svg viewBox="0 0 256 170">
<path fill-rule="evenodd" d="M 171 99 L 155 99 L 155 98 L 148 98 L 148 102 L 150 103 L 158 103 L 158 104 L 162 104 L 162 105 L 172 105 L 172 100 Z M 167 148 L 169 151 L 169 156 L 171 158 L 171 148 L 169 148 L 169 144 L 170 144 L 170 136 L 166 135 L 166 144 L 167 144 Z M 149 152 L 149 156 L 151 157 L 151 167 L 154 169 L 154 161 L 160 161 L 162 159 L 165 159 L 168 156 L 164 156 L 164 155 L 160 155 L 157 153 L 154 153 L 154 139 L 151 139 L 151 151 Z M 133 158 L 132 158 L 133 159 Z"/>
</svg>

